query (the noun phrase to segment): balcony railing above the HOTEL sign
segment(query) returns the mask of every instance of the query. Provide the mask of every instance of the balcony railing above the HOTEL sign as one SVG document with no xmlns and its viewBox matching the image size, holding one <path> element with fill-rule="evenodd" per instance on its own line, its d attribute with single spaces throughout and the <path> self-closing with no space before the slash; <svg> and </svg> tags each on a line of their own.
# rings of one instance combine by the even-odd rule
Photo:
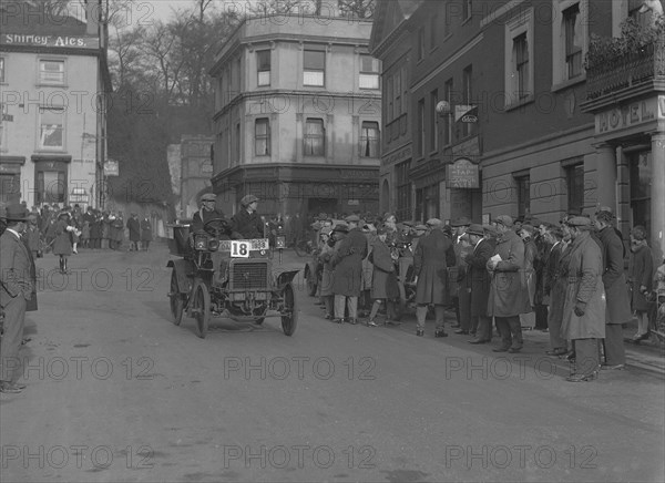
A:
<svg viewBox="0 0 665 483">
<path fill-rule="evenodd" d="M 586 70 L 586 99 L 592 101 L 656 79 L 665 81 L 665 40 L 645 45 L 640 52 L 616 56 Z"/>
</svg>

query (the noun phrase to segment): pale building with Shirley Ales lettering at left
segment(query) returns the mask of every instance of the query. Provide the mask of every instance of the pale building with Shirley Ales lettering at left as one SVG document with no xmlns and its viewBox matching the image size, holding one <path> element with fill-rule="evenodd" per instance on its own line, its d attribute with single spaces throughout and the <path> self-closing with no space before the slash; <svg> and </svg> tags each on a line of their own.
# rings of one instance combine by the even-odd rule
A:
<svg viewBox="0 0 665 483">
<path fill-rule="evenodd" d="M 111 90 L 104 30 L 93 14 L 85 23 L 10 4 L 0 10 L 0 197 L 101 206 Z"/>
</svg>

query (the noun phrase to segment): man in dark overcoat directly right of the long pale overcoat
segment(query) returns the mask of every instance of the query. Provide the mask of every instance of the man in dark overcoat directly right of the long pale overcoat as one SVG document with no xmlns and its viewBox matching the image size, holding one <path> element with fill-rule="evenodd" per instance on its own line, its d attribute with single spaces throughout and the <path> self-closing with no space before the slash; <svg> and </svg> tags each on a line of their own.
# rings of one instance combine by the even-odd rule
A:
<svg viewBox="0 0 665 483">
<path fill-rule="evenodd" d="M 624 369 L 626 353 L 623 346 L 622 323 L 633 318 L 631 298 L 624 274 L 624 245 L 612 227 L 614 215 L 601 209 L 595 215 L 594 224 L 603 248 L 603 285 L 607 297 L 605 311 L 605 363 L 602 369 Z"/>
</svg>

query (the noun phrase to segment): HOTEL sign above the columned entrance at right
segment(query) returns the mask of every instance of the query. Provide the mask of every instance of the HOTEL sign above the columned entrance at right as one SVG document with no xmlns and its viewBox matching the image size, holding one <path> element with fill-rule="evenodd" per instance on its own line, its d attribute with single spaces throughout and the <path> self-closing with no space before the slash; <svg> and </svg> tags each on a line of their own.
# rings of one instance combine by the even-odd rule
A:
<svg viewBox="0 0 665 483">
<path fill-rule="evenodd" d="M 646 99 L 603 111 L 595 117 L 595 132 L 607 134 L 615 131 L 665 120 L 665 95 Z"/>
</svg>

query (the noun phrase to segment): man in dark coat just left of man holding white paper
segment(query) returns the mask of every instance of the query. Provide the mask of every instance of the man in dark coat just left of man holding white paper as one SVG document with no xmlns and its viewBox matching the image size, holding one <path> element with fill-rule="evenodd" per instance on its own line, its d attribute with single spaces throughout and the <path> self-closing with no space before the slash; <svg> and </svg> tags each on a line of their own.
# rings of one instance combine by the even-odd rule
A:
<svg viewBox="0 0 665 483">
<path fill-rule="evenodd" d="M 464 256 L 464 263 L 471 296 L 471 328 L 475 330 L 475 337 L 469 343 L 487 343 L 492 341 L 492 319 L 488 317 L 491 279 L 485 267 L 494 254 L 494 240 L 484 237 L 480 225 L 471 225 L 467 235 L 473 247 L 473 251 Z"/>
</svg>

